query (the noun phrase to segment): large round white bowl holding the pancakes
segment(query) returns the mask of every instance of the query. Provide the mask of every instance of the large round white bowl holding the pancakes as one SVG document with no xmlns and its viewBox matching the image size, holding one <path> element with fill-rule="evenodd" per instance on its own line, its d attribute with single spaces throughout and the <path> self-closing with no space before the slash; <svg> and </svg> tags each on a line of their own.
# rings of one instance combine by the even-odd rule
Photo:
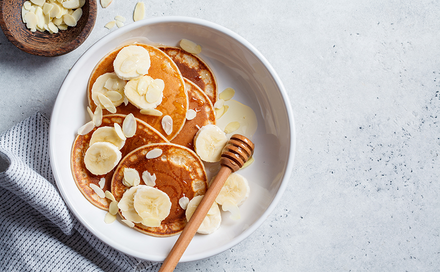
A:
<svg viewBox="0 0 440 272">
<path fill-rule="evenodd" d="M 151 261 L 163 261 L 177 236 L 151 237 L 121 222 L 105 224 L 106 212 L 90 204 L 76 187 L 70 151 L 78 128 L 90 119 L 86 87 L 98 61 L 125 43 L 137 40 L 177 46 L 182 38 L 201 44 L 200 56 L 213 69 L 219 92 L 234 88 L 234 99 L 254 110 L 258 129 L 252 139 L 255 161 L 239 171 L 251 190 L 240 206 L 242 218 L 234 221 L 224 213 L 221 228 L 210 235 L 197 234 L 180 261 L 221 253 L 254 232 L 279 202 L 294 162 L 294 116 L 285 89 L 262 54 L 236 33 L 200 19 L 158 17 L 128 24 L 100 39 L 72 67 L 59 90 L 50 122 L 52 170 L 68 207 L 91 233 L 125 254 Z"/>
</svg>

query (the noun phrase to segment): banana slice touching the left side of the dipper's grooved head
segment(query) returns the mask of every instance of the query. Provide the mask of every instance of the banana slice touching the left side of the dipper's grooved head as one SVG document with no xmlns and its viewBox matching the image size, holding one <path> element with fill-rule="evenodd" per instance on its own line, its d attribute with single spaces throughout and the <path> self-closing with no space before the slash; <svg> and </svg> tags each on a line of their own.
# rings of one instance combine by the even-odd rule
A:
<svg viewBox="0 0 440 272">
<path fill-rule="evenodd" d="M 225 132 L 218 126 L 202 126 L 194 137 L 194 150 L 206 162 L 220 161 L 222 150 L 228 142 Z"/>
</svg>

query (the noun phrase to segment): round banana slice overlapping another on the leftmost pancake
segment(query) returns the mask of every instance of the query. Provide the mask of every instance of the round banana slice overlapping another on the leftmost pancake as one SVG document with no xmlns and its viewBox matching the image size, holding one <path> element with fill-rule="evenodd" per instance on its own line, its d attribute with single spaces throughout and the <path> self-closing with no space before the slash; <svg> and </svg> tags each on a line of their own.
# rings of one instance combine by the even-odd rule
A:
<svg viewBox="0 0 440 272">
<path fill-rule="evenodd" d="M 103 175 L 115 168 L 121 158 L 122 153 L 114 144 L 96 142 L 87 149 L 84 163 L 92 174 Z"/>
</svg>

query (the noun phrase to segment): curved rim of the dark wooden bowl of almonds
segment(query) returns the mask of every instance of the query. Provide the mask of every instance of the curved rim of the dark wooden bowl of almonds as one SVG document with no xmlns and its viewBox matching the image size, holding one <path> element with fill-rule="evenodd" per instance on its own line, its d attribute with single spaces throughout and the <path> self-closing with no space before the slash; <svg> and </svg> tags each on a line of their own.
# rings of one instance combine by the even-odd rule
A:
<svg viewBox="0 0 440 272">
<path fill-rule="evenodd" d="M 62 55 L 65 55 L 67 53 L 74 51 L 75 49 L 80 47 L 81 44 L 83 44 L 83 42 L 87 39 L 87 37 L 92 32 L 93 27 L 95 26 L 95 23 L 96 23 L 97 2 L 95 0 L 89 0 L 89 1 L 87 1 L 89 4 L 89 17 L 87 18 L 86 25 L 84 26 L 84 28 L 81 30 L 80 34 L 75 39 L 72 39 L 70 42 L 65 43 L 66 45 L 64 47 L 58 48 L 56 50 L 54 50 L 54 49 L 51 49 L 51 50 L 38 49 L 38 50 L 36 50 L 34 47 L 29 47 L 25 43 L 20 42 L 15 37 L 15 35 L 11 32 L 11 30 L 8 28 L 6 20 L 5 20 L 5 14 L 3 12 L 4 2 L 5 2 L 5 0 L 0 0 L 0 28 L 2 28 L 2 31 L 5 34 L 5 36 L 8 38 L 8 40 L 12 44 L 14 44 L 14 46 L 16 46 L 18 49 L 20 49 L 23 52 L 26 52 L 26 53 L 29 53 L 29 54 L 32 54 L 35 56 L 58 57 L 58 56 L 62 56 Z M 21 0 L 21 2 L 24 3 L 25 0 Z"/>
</svg>

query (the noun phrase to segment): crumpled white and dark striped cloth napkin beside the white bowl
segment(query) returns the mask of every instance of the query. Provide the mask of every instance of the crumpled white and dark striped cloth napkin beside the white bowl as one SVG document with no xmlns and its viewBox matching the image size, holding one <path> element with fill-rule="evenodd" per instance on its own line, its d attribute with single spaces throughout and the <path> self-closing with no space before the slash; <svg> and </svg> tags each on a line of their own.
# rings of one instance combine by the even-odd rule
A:
<svg viewBox="0 0 440 272">
<path fill-rule="evenodd" d="M 55 185 L 49 121 L 41 113 L 0 135 L 0 156 L 0 271 L 159 270 L 107 246 L 69 211 Z"/>
</svg>

